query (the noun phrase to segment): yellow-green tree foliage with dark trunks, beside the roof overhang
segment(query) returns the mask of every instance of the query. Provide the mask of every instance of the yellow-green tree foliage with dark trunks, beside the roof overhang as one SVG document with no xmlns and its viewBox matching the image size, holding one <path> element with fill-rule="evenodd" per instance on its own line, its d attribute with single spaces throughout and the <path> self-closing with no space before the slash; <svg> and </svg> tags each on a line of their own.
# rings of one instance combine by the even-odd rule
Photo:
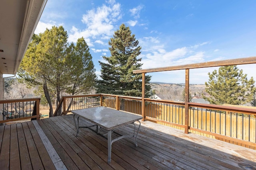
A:
<svg viewBox="0 0 256 170">
<path fill-rule="evenodd" d="M 78 39 L 76 45 L 69 44 L 67 39 L 68 34 L 62 26 L 34 34 L 18 70 L 18 76 L 27 84 L 43 87 L 38 92 L 44 92 L 50 107 L 54 102 L 52 93 L 57 105 L 60 92 L 88 92 L 96 79 L 84 38 Z"/>
</svg>

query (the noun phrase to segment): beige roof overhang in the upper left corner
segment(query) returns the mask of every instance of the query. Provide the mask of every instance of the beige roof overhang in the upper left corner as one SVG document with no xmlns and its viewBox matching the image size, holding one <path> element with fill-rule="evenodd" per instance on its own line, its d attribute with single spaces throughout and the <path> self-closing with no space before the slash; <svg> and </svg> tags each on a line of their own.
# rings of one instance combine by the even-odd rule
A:
<svg viewBox="0 0 256 170">
<path fill-rule="evenodd" d="M 47 0 L 1 0 L 0 72 L 16 74 Z M 3 51 L 3 52 L 2 52 Z"/>
</svg>

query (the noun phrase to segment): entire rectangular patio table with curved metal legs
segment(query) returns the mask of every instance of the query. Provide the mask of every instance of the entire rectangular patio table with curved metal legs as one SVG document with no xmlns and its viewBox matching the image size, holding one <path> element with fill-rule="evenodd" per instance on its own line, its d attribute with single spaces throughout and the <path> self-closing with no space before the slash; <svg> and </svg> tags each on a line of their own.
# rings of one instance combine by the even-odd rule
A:
<svg viewBox="0 0 256 170">
<path fill-rule="evenodd" d="M 137 140 L 138 131 L 140 129 L 140 121 L 139 120 L 142 119 L 142 116 L 136 115 L 133 113 L 120 111 L 120 110 L 116 110 L 116 109 L 111 109 L 108 107 L 103 107 L 103 106 L 73 110 L 71 112 L 74 114 L 73 118 L 74 118 L 74 122 L 76 125 L 76 130 L 77 130 L 76 136 L 78 135 L 80 128 L 88 128 L 88 129 L 94 131 L 95 133 L 97 133 L 98 135 L 101 135 L 102 137 L 108 139 L 108 163 L 111 162 L 111 146 L 112 146 L 112 143 L 114 143 L 115 141 L 118 141 L 125 137 L 133 137 L 134 144 L 136 147 L 138 147 L 136 140 Z M 77 121 L 76 121 L 75 116 L 77 116 Z M 90 121 L 93 125 L 79 126 L 79 117 L 83 117 L 84 119 Z M 134 123 L 136 121 L 139 122 L 137 131 L 136 131 L 136 125 Z M 120 133 L 113 131 L 115 128 L 118 128 L 118 127 L 121 127 L 124 125 L 128 125 L 130 123 L 133 123 L 133 125 L 134 125 L 134 133 L 131 135 L 121 135 Z M 92 127 L 94 127 L 94 126 L 96 126 L 96 131 L 94 129 L 92 129 Z M 100 128 L 98 128 L 98 127 L 100 127 Z M 104 130 L 108 131 L 108 133 L 101 134 L 98 131 L 99 129 L 104 129 Z M 116 133 L 119 137 L 112 140 L 112 138 L 111 138 L 112 133 Z M 107 137 L 106 137 L 106 135 L 107 135 Z"/>
</svg>

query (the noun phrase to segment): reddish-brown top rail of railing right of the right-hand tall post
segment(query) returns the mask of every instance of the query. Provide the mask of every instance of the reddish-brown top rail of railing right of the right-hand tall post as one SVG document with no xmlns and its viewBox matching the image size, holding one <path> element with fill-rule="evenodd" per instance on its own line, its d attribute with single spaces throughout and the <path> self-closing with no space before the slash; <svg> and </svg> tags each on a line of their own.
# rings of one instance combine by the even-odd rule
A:
<svg viewBox="0 0 256 170">
<path fill-rule="evenodd" d="M 192 102 L 189 102 L 188 105 L 191 107 L 202 107 L 205 109 L 214 109 L 214 110 L 256 115 L 256 108 L 252 109 L 252 108 L 244 108 L 244 107 L 222 106 L 222 105 L 214 105 L 214 104 L 200 104 L 200 103 L 192 103 Z"/>
</svg>

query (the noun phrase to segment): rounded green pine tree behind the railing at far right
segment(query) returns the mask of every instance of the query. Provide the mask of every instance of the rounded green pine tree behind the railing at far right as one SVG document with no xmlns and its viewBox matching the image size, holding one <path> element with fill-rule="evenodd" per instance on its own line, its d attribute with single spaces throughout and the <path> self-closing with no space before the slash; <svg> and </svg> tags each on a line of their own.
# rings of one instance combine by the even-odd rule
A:
<svg viewBox="0 0 256 170">
<path fill-rule="evenodd" d="M 208 73 L 209 81 L 205 83 L 206 92 L 210 97 L 203 94 L 203 98 L 211 104 L 245 104 L 252 101 L 255 93 L 255 81 L 251 77 L 247 79 L 247 74 L 243 74 L 234 66 L 221 66 L 217 72 Z"/>
</svg>

